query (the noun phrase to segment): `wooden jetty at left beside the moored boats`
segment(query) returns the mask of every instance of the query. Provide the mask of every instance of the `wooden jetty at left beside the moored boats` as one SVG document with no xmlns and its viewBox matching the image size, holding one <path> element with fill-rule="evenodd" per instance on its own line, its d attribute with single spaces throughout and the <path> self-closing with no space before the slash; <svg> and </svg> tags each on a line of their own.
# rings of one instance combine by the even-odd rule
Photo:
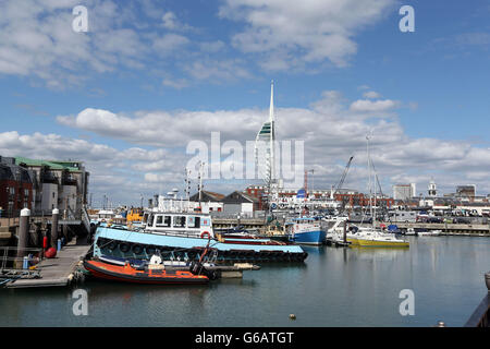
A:
<svg viewBox="0 0 490 349">
<path fill-rule="evenodd" d="M 71 242 L 58 252 L 54 258 L 42 260 L 37 265 L 40 278 L 16 279 L 5 285 L 7 288 L 33 288 L 68 286 L 73 273 L 90 249 L 89 244 Z"/>
</svg>

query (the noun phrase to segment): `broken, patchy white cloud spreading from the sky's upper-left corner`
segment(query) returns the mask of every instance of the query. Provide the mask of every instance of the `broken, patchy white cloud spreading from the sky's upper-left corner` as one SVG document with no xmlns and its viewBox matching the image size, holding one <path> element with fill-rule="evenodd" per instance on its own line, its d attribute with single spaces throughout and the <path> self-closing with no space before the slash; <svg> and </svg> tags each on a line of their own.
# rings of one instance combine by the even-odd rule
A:
<svg viewBox="0 0 490 349">
<path fill-rule="evenodd" d="M 223 55 L 225 43 L 209 35 L 199 40 L 203 31 L 149 1 L 85 1 L 88 33 L 72 29 L 77 4 L 76 0 L 0 1 L 0 76 L 28 77 L 52 89 L 127 70 L 148 72 L 173 88 L 205 80 L 252 77 L 244 59 Z M 192 39 L 183 32 L 191 32 Z M 182 77 L 169 79 L 169 70 Z"/>
</svg>

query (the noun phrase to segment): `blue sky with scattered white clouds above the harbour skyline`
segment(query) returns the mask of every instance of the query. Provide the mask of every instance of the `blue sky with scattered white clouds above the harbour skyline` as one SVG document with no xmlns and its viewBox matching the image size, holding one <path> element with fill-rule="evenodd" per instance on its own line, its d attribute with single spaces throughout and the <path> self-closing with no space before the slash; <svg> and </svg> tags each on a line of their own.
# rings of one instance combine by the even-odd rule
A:
<svg viewBox="0 0 490 349">
<path fill-rule="evenodd" d="M 95 204 L 138 204 L 183 190 L 193 141 L 255 140 L 273 80 L 277 137 L 304 142 L 315 189 L 354 156 L 344 186 L 365 192 L 370 134 L 383 192 L 487 195 L 489 17 L 483 0 L 2 0 L 0 155 L 82 160 Z"/>
</svg>

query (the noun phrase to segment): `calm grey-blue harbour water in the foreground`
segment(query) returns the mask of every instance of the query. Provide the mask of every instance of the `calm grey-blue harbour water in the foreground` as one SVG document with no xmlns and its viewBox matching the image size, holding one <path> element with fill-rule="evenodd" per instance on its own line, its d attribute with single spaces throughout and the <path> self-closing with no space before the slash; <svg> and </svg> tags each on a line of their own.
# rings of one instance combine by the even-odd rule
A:
<svg viewBox="0 0 490 349">
<path fill-rule="evenodd" d="M 463 326 L 487 292 L 490 239 L 408 240 L 403 250 L 305 248 L 305 264 L 209 286 L 2 289 L 0 326 Z M 87 291 L 87 316 L 73 314 L 76 288 Z M 400 314 L 404 289 L 414 291 L 415 315 Z"/>
</svg>

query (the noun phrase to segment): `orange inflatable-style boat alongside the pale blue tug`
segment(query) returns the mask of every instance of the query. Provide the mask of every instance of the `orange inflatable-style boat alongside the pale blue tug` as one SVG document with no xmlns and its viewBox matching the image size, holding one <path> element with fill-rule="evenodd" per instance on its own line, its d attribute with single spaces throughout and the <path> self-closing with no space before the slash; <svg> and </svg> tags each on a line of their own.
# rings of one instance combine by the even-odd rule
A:
<svg viewBox="0 0 490 349">
<path fill-rule="evenodd" d="M 93 260 L 84 261 L 84 267 L 96 278 L 113 281 L 151 285 L 209 282 L 209 278 L 205 275 L 194 275 L 186 270 L 166 269 L 163 266 L 134 267 L 128 262 L 124 266 L 120 266 Z"/>
</svg>

